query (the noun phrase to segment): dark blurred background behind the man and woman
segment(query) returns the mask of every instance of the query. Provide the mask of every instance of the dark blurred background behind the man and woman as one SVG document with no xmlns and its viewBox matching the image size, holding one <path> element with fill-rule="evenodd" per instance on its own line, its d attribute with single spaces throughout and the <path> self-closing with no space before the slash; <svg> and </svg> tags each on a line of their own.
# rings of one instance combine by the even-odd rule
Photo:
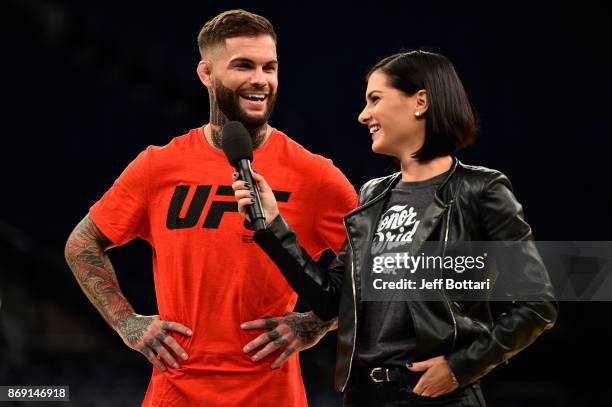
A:
<svg viewBox="0 0 612 407">
<path fill-rule="evenodd" d="M 356 187 L 392 170 L 356 120 L 364 74 L 402 49 L 437 51 L 482 123 L 460 159 L 510 177 L 538 240 L 612 240 L 604 3 L 402 4 L 4 2 L 0 385 L 70 385 L 72 405 L 139 405 L 151 367 L 88 303 L 63 247 L 138 152 L 208 120 L 196 36 L 229 8 L 275 25 L 272 125 L 332 158 Z M 136 310 L 155 313 L 147 245 L 111 258 Z M 610 405 L 611 308 L 562 303 L 552 331 L 484 380 L 489 404 Z M 340 400 L 334 342 L 302 354 L 314 407 Z"/>
</svg>

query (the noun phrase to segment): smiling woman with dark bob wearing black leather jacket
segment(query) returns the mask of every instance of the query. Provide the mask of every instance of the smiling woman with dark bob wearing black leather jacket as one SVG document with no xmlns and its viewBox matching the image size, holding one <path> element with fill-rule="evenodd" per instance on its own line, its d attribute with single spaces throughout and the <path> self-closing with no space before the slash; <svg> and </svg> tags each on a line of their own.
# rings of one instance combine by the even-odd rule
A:
<svg viewBox="0 0 612 407">
<path fill-rule="evenodd" d="M 374 65 L 359 122 L 370 130 L 372 150 L 395 157 L 401 171 L 361 187 L 359 207 L 345 216 L 347 241 L 328 270 L 299 246 L 260 174 L 255 180 L 268 227 L 255 241 L 320 318 L 338 317 L 335 379 L 345 406 L 483 406 L 479 379 L 557 316 L 522 207 L 505 175 L 455 157 L 474 142 L 477 121 L 444 56 L 413 51 Z M 234 176 L 233 188 L 247 216 L 251 186 Z M 510 270 L 487 264 L 485 275 L 519 282 L 529 298 L 509 296 L 492 307 L 487 298 L 464 301 L 439 287 L 435 301 L 366 300 L 365 282 L 381 272 L 380 258 L 404 250 L 401 244 L 426 241 L 441 242 L 442 255 L 449 242 L 520 243 Z"/>
</svg>

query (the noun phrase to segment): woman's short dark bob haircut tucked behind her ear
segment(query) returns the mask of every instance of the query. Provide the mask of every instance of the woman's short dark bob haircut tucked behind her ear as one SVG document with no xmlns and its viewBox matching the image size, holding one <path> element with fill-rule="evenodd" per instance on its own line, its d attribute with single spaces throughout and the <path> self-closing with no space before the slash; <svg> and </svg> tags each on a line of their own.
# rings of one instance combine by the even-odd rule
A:
<svg viewBox="0 0 612 407">
<path fill-rule="evenodd" d="M 366 76 L 380 70 L 388 85 L 408 96 L 427 92 L 425 142 L 413 154 L 418 161 L 454 155 L 473 144 L 478 120 L 453 64 L 443 55 L 426 51 L 403 52 L 384 58 Z"/>
</svg>

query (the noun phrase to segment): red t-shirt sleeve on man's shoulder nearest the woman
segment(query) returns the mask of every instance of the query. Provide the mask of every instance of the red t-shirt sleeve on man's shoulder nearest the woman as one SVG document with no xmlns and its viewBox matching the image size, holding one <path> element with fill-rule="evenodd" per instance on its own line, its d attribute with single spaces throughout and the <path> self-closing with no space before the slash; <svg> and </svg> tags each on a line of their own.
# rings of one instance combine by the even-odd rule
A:
<svg viewBox="0 0 612 407">
<path fill-rule="evenodd" d="M 344 215 L 357 207 L 355 188 L 332 161 L 327 160 L 321 172 L 317 195 L 321 199 L 317 202 L 319 208 L 315 212 L 313 227 L 319 254 L 325 249 L 338 254 L 346 240 Z"/>
</svg>

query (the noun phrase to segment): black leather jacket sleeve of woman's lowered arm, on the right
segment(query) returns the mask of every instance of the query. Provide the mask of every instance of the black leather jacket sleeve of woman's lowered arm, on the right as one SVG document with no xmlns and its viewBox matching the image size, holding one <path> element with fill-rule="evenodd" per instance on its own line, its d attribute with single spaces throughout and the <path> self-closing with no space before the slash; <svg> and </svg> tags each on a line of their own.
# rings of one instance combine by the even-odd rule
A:
<svg viewBox="0 0 612 407">
<path fill-rule="evenodd" d="M 472 383 L 529 346 L 557 318 L 557 303 L 546 267 L 525 222 L 510 181 L 496 173 L 478 202 L 484 240 L 503 242 L 511 255 L 498 262 L 497 285 L 508 301 L 489 329 L 469 345 L 447 355 L 459 385 Z"/>
</svg>

